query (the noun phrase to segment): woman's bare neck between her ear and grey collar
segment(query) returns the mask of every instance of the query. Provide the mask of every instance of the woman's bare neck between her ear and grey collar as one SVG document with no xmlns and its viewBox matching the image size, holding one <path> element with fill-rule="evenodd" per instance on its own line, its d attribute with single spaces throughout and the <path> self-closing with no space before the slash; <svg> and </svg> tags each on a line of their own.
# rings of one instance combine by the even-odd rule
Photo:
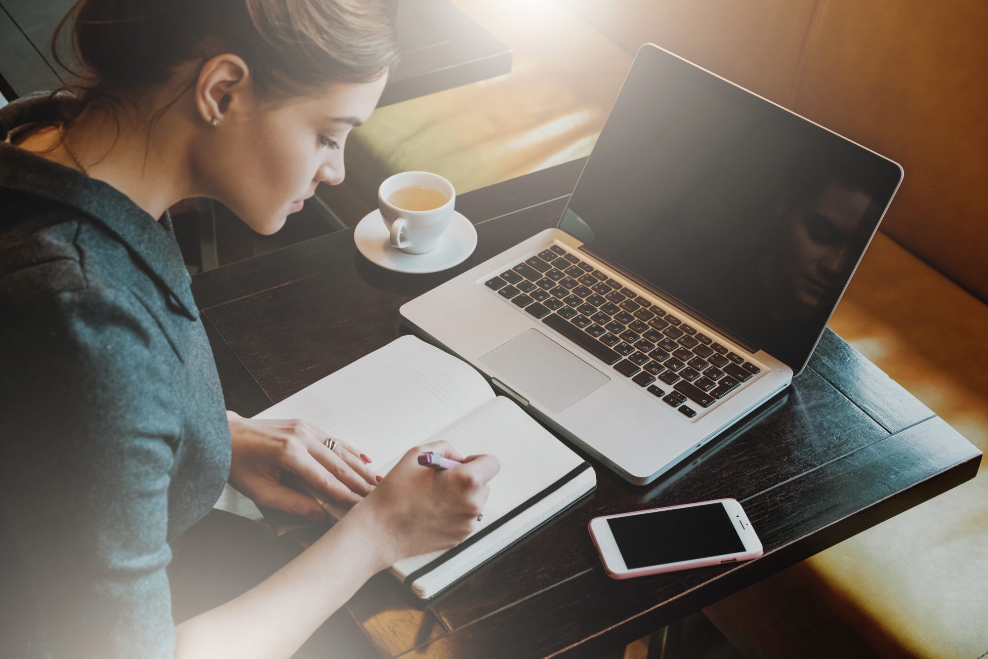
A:
<svg viewBox="0 0 988 659">
<path fill-rule="evenodd" d="M 114 115 L 90 107 L 66 131 L 65 144 L 52 155 L 67 156 L 72 167 L 77 167 L 78 159 L 90 178 L 113 186 L 159 218 L 169 206 L 196 197 L 200 191 L 190 174 L 188 154 L 193 135 L 180 104 L 156 119 L 154 109 L 161 106 L 148 105 L 152 110 L 118 108 L 119 130 Z"/>
</svg>

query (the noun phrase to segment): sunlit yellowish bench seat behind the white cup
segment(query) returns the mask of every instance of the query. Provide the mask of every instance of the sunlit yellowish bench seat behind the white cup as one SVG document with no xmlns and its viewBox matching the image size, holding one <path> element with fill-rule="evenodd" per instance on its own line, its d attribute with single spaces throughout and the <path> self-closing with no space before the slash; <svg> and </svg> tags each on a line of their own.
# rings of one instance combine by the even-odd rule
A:
<svg viewBox="0 0 988 659">
<path fill-rule="evenodd" d="M 590 153 L 632 56 L 564 10 L 453 3 L 513 49 L 512 71 L 374 111 L 347 143 L 347 183 L 376 206 L 406 170 L 468 192 Z"/>
</svg>

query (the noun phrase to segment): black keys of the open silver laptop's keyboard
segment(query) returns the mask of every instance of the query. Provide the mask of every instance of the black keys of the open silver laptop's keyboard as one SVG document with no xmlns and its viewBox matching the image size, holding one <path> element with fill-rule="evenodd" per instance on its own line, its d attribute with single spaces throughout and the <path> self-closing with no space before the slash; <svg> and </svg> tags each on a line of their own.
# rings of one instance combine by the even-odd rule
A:
<svg viewBox="0 0 988 659">
<path fill-rule="evenodd" d="M 691 419 L 762 372 L 559 245 L 484 286 Z"/>
</svg>

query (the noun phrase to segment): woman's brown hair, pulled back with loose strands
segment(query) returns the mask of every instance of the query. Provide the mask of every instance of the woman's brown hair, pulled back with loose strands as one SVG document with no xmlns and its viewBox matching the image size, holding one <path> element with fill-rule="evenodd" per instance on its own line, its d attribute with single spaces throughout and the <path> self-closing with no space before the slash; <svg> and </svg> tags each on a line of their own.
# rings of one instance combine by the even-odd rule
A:
<svg viewBox="0 0 988 659">
<path fill-rule="evenodd" d="M 81 71 L 57 54 L 72 18 Z M 77 78 L 62 88 L 80 98 L 66 127 L 97 100 L 125 103 L 180 64 L 223 52 L 243 58 L 266 101 L 332 82 L 371 82 L 397 61 L 394 30 L 377 0 L 79 0 L 55 30 L 52 50 Z"/>
</svg>

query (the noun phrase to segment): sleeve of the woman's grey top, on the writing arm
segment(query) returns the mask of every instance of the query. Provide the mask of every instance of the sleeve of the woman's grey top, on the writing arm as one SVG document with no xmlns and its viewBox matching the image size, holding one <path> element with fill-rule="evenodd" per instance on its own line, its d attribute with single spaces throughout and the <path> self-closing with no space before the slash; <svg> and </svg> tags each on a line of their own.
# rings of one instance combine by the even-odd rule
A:
<svg viewBox="0 0 988 659">
<path fill-rule="evenodd" d="M 179 431 L 147 318 L 88 288 L 3 306 L 0 500 L 49 656 L 172 657 Z"/>
</svg>

